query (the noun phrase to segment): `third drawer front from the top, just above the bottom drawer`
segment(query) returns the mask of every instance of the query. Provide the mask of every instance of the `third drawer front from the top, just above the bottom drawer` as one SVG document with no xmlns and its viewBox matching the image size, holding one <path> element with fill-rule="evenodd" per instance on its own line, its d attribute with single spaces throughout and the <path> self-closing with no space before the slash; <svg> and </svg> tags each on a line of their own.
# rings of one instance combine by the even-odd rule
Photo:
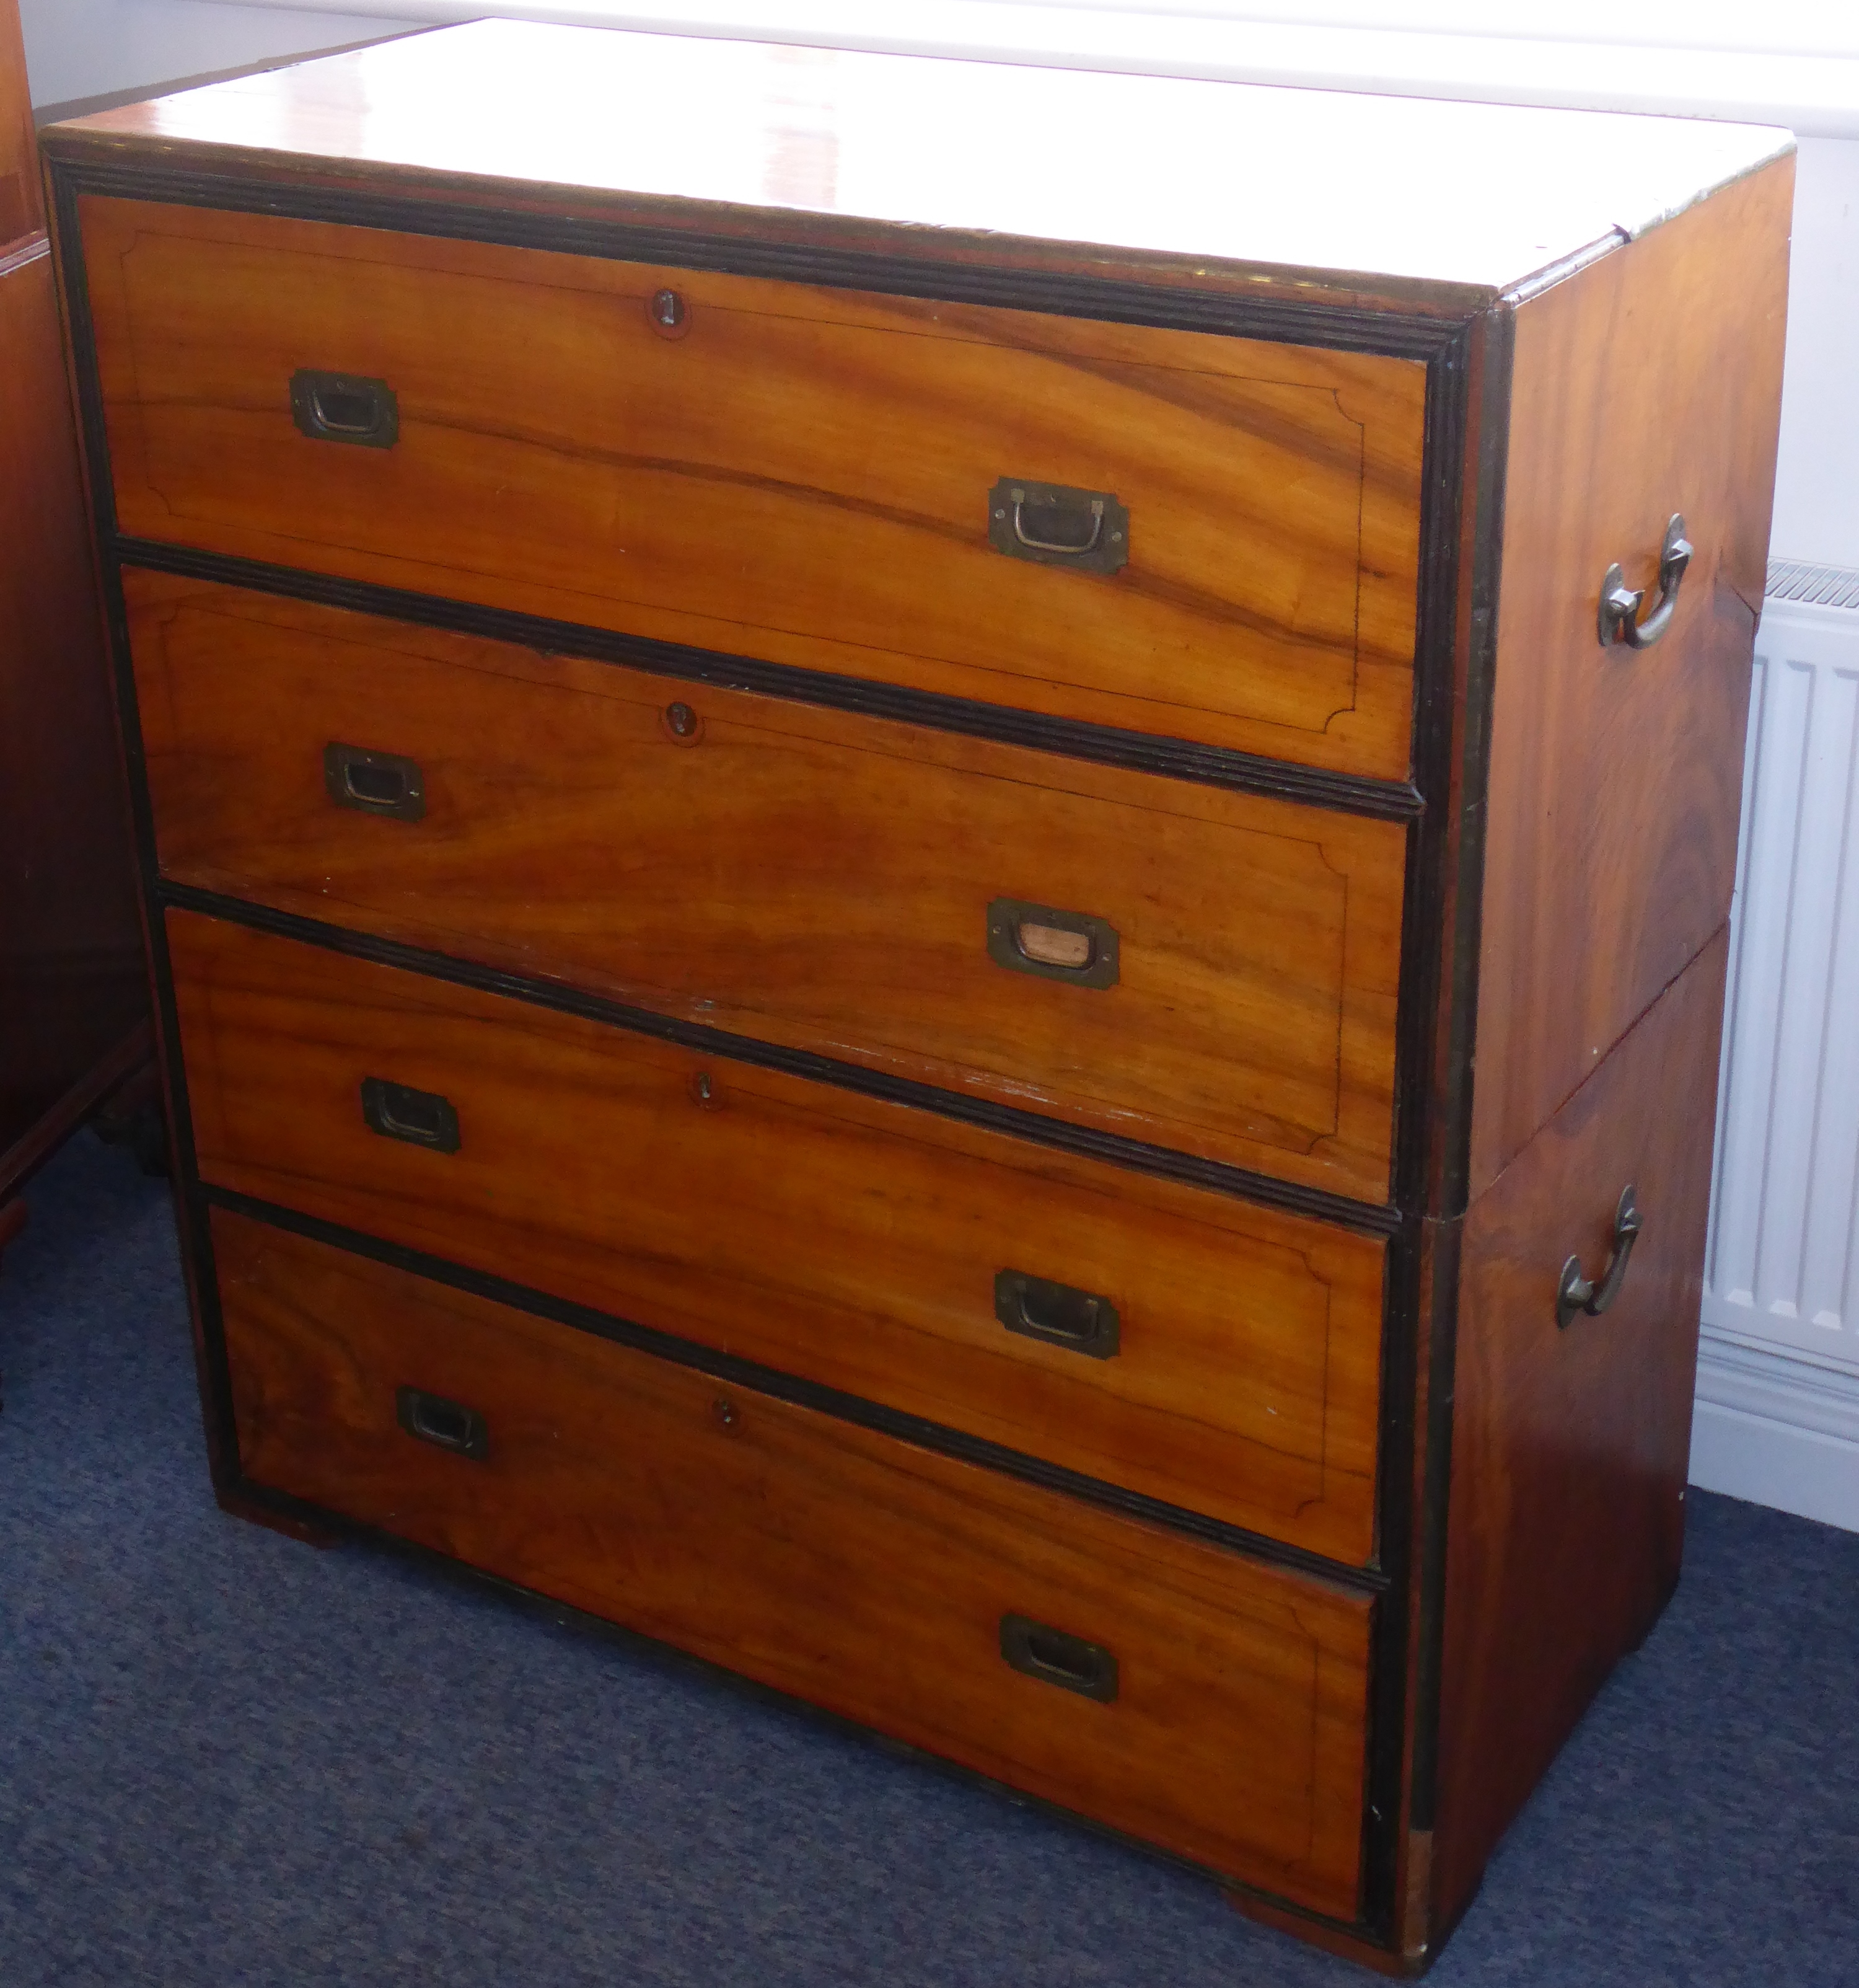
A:
<svg viewBox="0 0 1859 1988">
<path fill-rule="evenodd" d="M 209 1183 L 1368 1559 L 1380 1242 L 167 922 Z"/>
</svg>

